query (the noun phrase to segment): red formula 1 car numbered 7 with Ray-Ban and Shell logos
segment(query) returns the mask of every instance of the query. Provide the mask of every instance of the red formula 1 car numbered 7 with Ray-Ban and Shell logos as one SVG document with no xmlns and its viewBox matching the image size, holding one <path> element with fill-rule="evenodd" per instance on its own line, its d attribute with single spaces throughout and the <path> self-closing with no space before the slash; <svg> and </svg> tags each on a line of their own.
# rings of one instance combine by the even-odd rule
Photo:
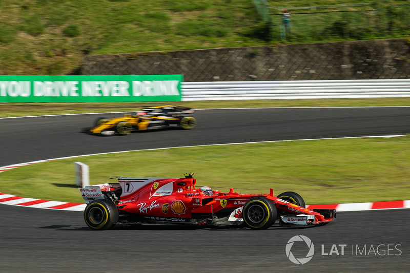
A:
<svg viewBox="0 0 410 273">
<path fill-rule="evenodd" d="M 238 225 L 265 229 L 280 225 L 309 226 L 336 218 L 334 209 L 307 209 L 300 195 L 285 192 L 238 194 L 195 188 L 192 174 L 185 178 L 128 178 L 118 183 L 79 188 L 87 203 L 84 219 L 92 229 L 109 229 L 116 223 L 177 223 Z"/>
</svg>

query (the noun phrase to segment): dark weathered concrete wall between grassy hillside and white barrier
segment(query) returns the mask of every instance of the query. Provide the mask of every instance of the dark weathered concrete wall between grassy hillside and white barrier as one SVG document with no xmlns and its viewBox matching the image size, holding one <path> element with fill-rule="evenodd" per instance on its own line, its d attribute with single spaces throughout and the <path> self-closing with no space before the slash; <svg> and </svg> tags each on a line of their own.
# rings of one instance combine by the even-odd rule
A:
<svg viewBox="0 0 410 273">
<path fill-rule="evenodd" d="M 183 74 L 184 81 L 410 78 L 407 39 L 87 56 L 83 75 Z"/>
</svg>

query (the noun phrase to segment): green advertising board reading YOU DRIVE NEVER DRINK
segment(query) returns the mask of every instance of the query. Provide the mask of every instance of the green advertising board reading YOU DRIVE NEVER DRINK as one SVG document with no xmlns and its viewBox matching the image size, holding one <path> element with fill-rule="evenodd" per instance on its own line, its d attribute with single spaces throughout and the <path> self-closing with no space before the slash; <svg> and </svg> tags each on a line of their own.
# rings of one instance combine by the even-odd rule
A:
<svg viewBox="0 0 410 273">
<path fill-rule="evenodd" d="M 0 76 L 0 102 L 180 101 L 183 75 Z"/>
</svg>

